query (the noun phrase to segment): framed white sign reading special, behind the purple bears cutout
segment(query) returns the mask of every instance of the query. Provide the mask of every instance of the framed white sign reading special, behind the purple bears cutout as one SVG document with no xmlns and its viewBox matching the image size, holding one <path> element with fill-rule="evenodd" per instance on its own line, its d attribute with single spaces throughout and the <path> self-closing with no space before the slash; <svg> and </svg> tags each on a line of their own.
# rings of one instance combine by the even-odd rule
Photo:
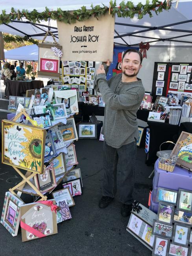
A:
<svg viewBox="0 0 192 256">
<path fill-rule="evenodd" d="M 56 203 L 61 202 L 63 199 L 66 199 L 68 207 L 74 206 L 75 202 L 68 188 L 60 189 L 52 192 L 52 196 L 55 199 Z"/>
</svg>

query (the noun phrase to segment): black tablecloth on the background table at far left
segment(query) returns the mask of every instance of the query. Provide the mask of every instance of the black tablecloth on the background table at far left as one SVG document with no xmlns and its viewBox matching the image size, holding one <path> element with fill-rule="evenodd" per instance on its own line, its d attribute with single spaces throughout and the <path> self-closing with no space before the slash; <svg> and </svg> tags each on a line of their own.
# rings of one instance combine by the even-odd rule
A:
<svg viewBox="0 0 192 256">
<path fill-rule="evenodd" d="M 8 98 L 9 96 L 22 96 L 27 90 L 40 89 L 44 87 L 43 81 L 40 80 L 31 80 L 30 82 L 6 80 L 6 84 L 6 95 Z"/>
</svg>

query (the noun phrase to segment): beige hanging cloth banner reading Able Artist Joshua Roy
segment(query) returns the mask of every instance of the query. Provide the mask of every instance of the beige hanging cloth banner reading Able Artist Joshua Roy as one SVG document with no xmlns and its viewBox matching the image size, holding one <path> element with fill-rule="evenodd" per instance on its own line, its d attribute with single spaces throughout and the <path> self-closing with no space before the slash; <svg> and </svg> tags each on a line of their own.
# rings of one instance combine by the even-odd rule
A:
<svg viewBox="0 0 192 256">
<path fill-rule="evenodd" d="M 75 24 L 57 20 L 61 60 L 113 61 L 114 19 L 107 14 L 99 20 L 91 17 Z"/>
</svg>

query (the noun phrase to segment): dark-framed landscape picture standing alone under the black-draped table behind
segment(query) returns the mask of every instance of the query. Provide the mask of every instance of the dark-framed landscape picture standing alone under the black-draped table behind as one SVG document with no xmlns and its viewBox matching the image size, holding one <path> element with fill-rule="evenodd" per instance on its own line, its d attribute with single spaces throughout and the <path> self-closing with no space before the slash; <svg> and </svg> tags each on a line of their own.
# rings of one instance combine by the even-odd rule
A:
<svg viewBox="0 0 192 256">
<path fill-rule="evenodd" d="M 90 122 L 78 124 L 78 138 L 79 139 L 96 139 L 97 124 L 93 124 Z"/>
</svg>

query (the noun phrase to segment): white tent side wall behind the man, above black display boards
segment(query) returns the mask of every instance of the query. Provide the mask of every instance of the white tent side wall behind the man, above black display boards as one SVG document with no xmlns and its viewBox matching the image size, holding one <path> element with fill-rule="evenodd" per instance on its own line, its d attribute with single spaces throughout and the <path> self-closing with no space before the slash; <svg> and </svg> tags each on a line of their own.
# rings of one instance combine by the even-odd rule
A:
<svg viewBox="0 0 192 256">
<path fill-rule="evenodd" d="M 169 47 L 150 47 L 147 51 L 147 59 L 143 59 L 142 68 L 138 73 L 138 78 L 142 79 L 146 91 L 152 89 L 154 63 L 169 62 L 169 49 Z M 192 47 L 171 46 L 170 62 L 192 62 Z"/>
</svg>

